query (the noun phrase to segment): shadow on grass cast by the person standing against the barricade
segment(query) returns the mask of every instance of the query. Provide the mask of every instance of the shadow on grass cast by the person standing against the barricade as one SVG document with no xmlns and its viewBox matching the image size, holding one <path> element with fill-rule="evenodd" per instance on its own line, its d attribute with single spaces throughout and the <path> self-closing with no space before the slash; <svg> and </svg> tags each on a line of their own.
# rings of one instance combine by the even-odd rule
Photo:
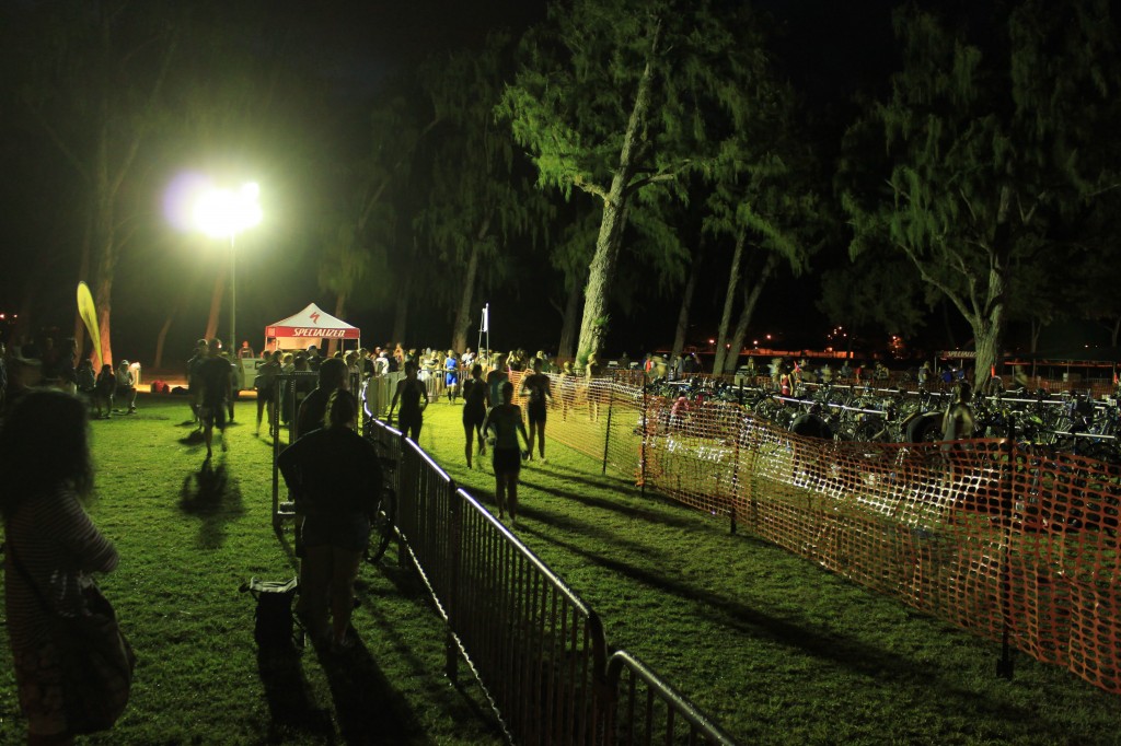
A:
<svg viewBox="0 0 1121 746">
<path fill-rule="evenodd" d="M 315 649 L 327 675 L 335 718 L 348 744 L 420 743 L 425 728 L 358 636 L 345 653 Z"/>
</svg>

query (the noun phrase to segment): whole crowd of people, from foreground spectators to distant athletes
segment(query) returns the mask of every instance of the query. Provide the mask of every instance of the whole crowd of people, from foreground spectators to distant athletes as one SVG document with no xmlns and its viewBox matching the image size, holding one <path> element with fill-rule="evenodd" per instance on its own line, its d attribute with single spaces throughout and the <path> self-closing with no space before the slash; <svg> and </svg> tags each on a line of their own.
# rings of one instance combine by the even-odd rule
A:
<svg viewBox="0 0 1121 746">
<path fill-rule="evenodd" d="M 9 640 L 16 666 L 19 700 L 36 743 L 67 743 L 66 694 L 63 691 L 63 650 L 58 615 L 81 614 L 82 594 L 93 572 L 111 571 L 117 552 L 92 524 L 83 505 L 93 494 L 86 422 L 131 413 L 137 407 L 137 379 L 132 364 L 122 360 L 94 374 L 89 360 L 76 361 L 76 345 L 65 341 L 43 346 L 0 345 L 0 470 L 7 488 L 0 494 L 4 521 L 6 597 Z M 219 339 L 200 339 L 187 363 L 188 401 L 206 446 L 213 455 L 214 430 L 228 448 L 225 429 L 233 420 L 239 358 L 252 351 L 242 345 L 237 357 Z M 749 358 L 749 365 L 753 362 Z M 700 361 L 686 355 L 670 361 L 647 355 L 631 363 L 626 356 L 613 367 L 642 371 L 648 380 L 684 377 L 700 371 Z M 356 432 L 360 421 L 355 385 L 392 375 L 390 423 L 401 437 L 417 440 L 424 411 L 434 394 L 457 404 L 462 400 L 464 457 L 469 468 L 490 455 L 494 474 L 498 517 L 518 522 L 518 482 L 522 465 L 546 463 L 546 422 L 550 404 L 567 416 L 576 382 L 606 372 L 597 356 L 583 370 L 572 363 L 557 366 L 544 352 L 491 353 L 405 349 L 400 345 L 321 355 L 306 351 L 265 353 L 257 365 L 257 433 L 268 414 L 270 433 L 277 422 L 275 408 L 286 407 L 277 380 L 293 372 L 313 383 L 298 405 L 285 417 L 294 419 L 294 439 L 279 456 L 296 505 L 302 554 L 297 614 L 313 638 L 344 651 L 353 645 L 351 610 L 354 581 L 369 542 L 371 521 L 382 488 L 381 461 L 374 447 Z M 775 360 L 769 373 L 773 385 L 787 390 L 798 381 L 830 382 L 839 377 L 877 379 L 882 365 L 855 370 L 847 364 L 833 372 L 828 364 L 812 370 L 805 360 Z M 521 373 L 511 376 L 512 373 Z M 549 375 L 554 373 L 556 375 Z M 926 375 L 930 375 L 926 371 Z M 513 380 L 519 380 L 516 386 Z M 554 383 L 557 391 L 554 391 Z M 971 417 L 967 389 L 947 411 L 947 430 L 967 437 Z M 590 399 L 589 417 L 597 416 Z M 525 403 L 522 411 L 521 403 Z M 118 409 L 114 410 L 114 405 Z M 396 421 L 395 416 L 396 414 Z M 528 425 L 528 427 L 527 427 Z M 330 466 L 327 466 L 330 464 Z M 73 587 L 64 607 L 47 589 Z"/>
</svg>

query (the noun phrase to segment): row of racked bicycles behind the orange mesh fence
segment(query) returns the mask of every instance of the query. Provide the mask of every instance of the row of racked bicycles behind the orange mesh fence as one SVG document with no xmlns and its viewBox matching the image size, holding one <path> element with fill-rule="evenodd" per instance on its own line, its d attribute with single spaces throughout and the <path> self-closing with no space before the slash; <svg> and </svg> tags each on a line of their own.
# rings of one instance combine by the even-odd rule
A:
<svg viewBox="0 0 1121 746">
<path fill-rule="evenodd" d="M 655 381 L 648 397 L 667 407 L 659 430 L 704 436 L 701 421 L 716 422 L 735 403 L 756 417 L 803 436 L 853 441 L 925 442 L 943 439 L 943 416 L 952 392 L 803 383 L 790 395 L 768 388 L 732 385 L 714 379 Z M 1115 398 L 1086 392 L 1060 394 L 1019 390 L 975 395 L 971 405 L 976 438 L 1013 438 L 1020 445 L 1121 464 L 1121 410 Z"/>
</svg>

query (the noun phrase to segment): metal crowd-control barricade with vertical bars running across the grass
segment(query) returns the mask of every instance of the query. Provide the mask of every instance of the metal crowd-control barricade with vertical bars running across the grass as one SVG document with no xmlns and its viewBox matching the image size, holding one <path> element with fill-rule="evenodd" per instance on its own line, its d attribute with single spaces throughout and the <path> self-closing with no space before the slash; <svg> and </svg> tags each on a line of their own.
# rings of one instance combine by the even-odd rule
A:
<svg viewBox="0 0 1121 746">
<path fill-rule="evenodd" d="M 632 656 L 617 653 L 609 677 L 599 616 L 419 446 L 381 422 L 364 431 L 399 458 L 400 556 L 447 624 L 447 673 L 462 655 L 511 743 L 735 743 Z M 652 729 L 654 709 L 632 706 L 634 681 L 664 716 Z"/>
</svg>

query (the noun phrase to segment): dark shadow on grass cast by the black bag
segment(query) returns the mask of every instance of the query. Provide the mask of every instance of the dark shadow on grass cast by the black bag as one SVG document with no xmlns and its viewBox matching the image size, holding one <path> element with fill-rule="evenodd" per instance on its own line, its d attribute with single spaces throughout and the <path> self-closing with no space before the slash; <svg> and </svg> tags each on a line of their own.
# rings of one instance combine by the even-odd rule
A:
<svg viewBox="0 0 1121 746">
<path fill-rule="evenodd" d="M 299 651 L 258 649 L 257 671 L 269 706 L 268 743 L 285 743 L 294 733 L 317 736 L 324 744 L 335 743 L 331 712 L 315 707 Z"/>
</svg>

